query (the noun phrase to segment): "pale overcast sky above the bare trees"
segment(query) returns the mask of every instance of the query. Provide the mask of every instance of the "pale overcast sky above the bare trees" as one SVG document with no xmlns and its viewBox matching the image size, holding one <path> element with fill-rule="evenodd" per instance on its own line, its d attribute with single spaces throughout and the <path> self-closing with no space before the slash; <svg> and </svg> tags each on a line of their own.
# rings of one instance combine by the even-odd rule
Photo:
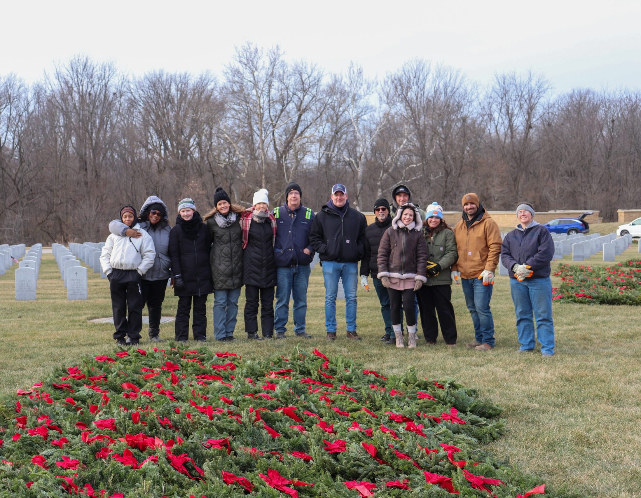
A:
<svg viewBox="0 0 641 498">
<path fill-rule="evenodd" d="M 14 1 L 0 13 L 0 75 L 28 82 L 74 54 L 133 75 L 220 74 L 249 41 L 379 78 L 422 57 L 483 84 L 531 69 L 556 92 L 641 88 L 640 1 Z"/>
</svg>

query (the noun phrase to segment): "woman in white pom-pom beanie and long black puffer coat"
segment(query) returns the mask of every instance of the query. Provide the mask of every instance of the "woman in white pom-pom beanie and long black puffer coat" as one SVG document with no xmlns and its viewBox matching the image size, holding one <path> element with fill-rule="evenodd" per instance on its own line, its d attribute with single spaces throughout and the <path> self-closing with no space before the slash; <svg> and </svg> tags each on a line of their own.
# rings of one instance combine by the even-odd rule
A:
<svg viewBox="0 0 641 498">
<path fill-rule="evenodd" d="M 263 337 L 274 336 L 274 292 L 276 262 L 274 240 L 276 219 L 269 212 L 269 192 L 261 188 L 254 194 L 253 207 L 242 213 L 240 228 L 243 235 L 243 283 L 245 284 L 245 331 L 248 339 L 258 336 L 258 301 Z"/>
</svg>

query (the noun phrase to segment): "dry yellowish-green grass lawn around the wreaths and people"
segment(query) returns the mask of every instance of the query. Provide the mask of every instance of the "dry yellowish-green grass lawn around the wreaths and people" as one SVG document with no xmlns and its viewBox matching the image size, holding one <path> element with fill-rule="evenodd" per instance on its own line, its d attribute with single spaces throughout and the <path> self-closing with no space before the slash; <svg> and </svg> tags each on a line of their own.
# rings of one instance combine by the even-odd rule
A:
<svg viewBox="0 0 641 498">
<path fill-rule="evenodd" d="M 592 227 L 591 227 L 592 228 Z M 594 231 L 600 231 L 596 229 Z M 602 232 L 602 233 L 608 233 Z M 637 254 L 637 245 L 617 260 Z M 590 265 L 603 265 L 597 254 Z M 563 262 L 567 263 L 566 256 Z M 607 263 L 611 264 L 611 263 Z M 558 266 L 554 263 L 553 269 Z M 12 394 L 37 382 L 53 365 L 75 365 L 83 354 L 112 353 L 113 326 L 87 320 L 111 315 L 108 281 L 89 274 L 89 300 L 67 301 L 66 291 L 51 254 L 43 254 L 37 301 L 14 300 L 15 266 L 0 277 L 0 393 Z M 555 285 L 558 282 L 555 282 Z M 312 272 L 308 295 L 308 332 L 304 347 L 326 354 L 343 354 L 389 374 L 410 366 L 430 378 L 455 378 L 478 388 L 481 395 L 504 407 L 508 431 L 491 445 L 497 456 L 520 470 L 541 476 L 554 488 L 567 486 L 593 497 L 638 496 L 641 477 L 641 345 L 638 322 L 641 308 L 554 303 L 556 355 L 515 354 L 519 344 L 508 278 L 497 277 L 492 298 L 497 347 L 490 353 L 465 348 L 474 340 L 460 287 L 453 301 L 458 320 L 458 347 L 440 341 L 414 350 L 385 347 L 376 294 L 358 290 L 360 342 L 344 336 L 344 303 L 338 304 L 338 340 L 324 340 L 324 288 L 320 267 Z M 177 299 L 168 290 L 163 315 L 174 315 Z M 249 356 L 289 354 L 299 340 L 249 342 L 244 340 L 241 298 L 238 341 L 217 351 Z M 208 336 L 213 338 L 211 306 Z M 161 336 L 172 338 L 173 324 L 161 326 Z M 420 334 L 419 334 L 420 335 Z M 143 331 L 146 338 L 146 330 Z M 221 344 L 222 345 L 222 344 Z M 146 340 L 143 347 L 151 347 Z M 270 351 L 265 351 L 269 349 Z"/>
</svg>

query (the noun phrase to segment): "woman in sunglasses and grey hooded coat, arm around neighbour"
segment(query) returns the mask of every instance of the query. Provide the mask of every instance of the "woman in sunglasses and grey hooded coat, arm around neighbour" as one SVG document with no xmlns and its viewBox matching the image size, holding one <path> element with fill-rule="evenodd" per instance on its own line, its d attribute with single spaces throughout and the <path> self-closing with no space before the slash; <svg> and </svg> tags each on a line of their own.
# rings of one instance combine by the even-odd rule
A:
<svg viewBox="0 0 641 498">
<path fill-rule="evenodd" d="M 140 228 L 144 229 L 153 239 L 156 248 L 154 265 L 147 271 L 140 281 L 143 306 L 147 304 L 149 313 L 149 340 L 163 342 L 160 338 L 160 317 L 162 316 L 162 303 L 165 300 L 167 279 L 171 269 L 169 259 L 169 213 L 167 206 L 156 195 L 149 195 L 140 208 Z M 138 238 L 139 232 L 129 228 L 121 220 L 112 220 L 109 231 L 120 237 Z"/>
</svg>

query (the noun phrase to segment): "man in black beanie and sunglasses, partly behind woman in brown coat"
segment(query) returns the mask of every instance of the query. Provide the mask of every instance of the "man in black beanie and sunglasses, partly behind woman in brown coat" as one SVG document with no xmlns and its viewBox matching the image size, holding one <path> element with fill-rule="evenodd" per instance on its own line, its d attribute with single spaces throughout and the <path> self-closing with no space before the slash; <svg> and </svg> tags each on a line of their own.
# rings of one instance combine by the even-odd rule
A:
<svg viewBox="0 0 641 498">
<path fill-rule="evenodd" d="M 381 303 L 381 314 L 383 315 L 383 322 L 385 323 L 385 335 L 381 340 L 385 344 L 396 344 L 394 329 L 392 329 L 392 315 L 390 315 L 390 295 L 387 292 L 381 279 L 377 278 L 378 275 L 378 246 L 381 244 L 381 238 L 385 230 L 392 226 L 392 216 L 390 216 L 390 203 L 387 199 L 378 199 L 374 203 L 374 216 L 376 220 L 374 223 L 367 226 L 365 229 L 365 239 L 367 240 L 367 247 L 365 257 L 361 261 L 361 286 L 369 291 L 367 286 L 367 277 L 372 276 L 374 289 L 378 295 L 378 301 Z"/>
</svg>

